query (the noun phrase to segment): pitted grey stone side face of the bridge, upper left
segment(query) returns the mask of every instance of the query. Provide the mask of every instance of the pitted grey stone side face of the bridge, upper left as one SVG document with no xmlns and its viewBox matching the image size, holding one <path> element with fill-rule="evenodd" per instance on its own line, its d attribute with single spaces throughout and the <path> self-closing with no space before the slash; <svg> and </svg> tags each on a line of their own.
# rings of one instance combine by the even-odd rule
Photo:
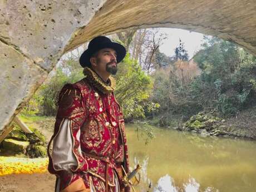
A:
<svg viewBox="0 0 256 192">
<path fill-rule="evenodd" d="M 0 1 L 0 134 L 104 2 Z"/>
</svg>

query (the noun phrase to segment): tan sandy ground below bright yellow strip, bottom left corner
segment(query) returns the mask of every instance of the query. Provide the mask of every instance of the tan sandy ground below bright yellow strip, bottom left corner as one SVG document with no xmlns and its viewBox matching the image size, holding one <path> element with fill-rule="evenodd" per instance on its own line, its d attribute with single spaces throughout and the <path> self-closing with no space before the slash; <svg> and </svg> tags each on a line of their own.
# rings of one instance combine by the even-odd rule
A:
<svg viewBox="0 0 256 192">
<path fill-rule="evenodd" d="M 55 175 L 11 174 L 0 176 L 0 191 L 4 192 L 54 192 Z"/>
</svg>

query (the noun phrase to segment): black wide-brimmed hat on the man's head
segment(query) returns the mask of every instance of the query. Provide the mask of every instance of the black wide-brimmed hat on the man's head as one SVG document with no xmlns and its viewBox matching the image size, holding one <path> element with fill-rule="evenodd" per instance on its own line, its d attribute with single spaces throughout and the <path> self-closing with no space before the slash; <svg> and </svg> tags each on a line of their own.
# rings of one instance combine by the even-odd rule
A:
<svg viewBox="0 0 256 192">
<path fill-rule="evenodd" d="M 93 53 L 96 53 L 97 51 L 101 50 L 102 48 L 112 48 L 116 51 L 116 62 L 119 63 L 122 61 L 122 59 L 125 57 L 126 50 L 125 47 L 122 46 L 120 43 L 112 42 L 109 38 L 105 36 L 98 36 L 93 38 L 89 45 L 87 50 L 85 50 L 81 57 L 80 57 L 80 65 L 82 67 L 90 67 L 91 62 L 90 58 L 93 55 Z"/>
</svg>

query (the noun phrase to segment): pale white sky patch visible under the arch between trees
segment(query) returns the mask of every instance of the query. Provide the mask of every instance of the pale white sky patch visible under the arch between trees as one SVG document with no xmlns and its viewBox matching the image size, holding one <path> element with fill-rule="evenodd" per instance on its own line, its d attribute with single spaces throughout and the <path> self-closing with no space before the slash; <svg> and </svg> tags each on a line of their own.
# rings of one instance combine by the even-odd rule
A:
<svg viewBox="0 0 256 192">
<path fill-rule="evenodd" d="M 203 43 L 203 34 L 190 32 L 184 29 L 176 28 L 159 28 L 160 33 L 167 33 L 168 37 L 160 46 L 160 52 L 167 56 L 174 56 L 174 49 L 179 45 L 179 38 L 184 42 L 184 48 L 188 51 L 189 58 L 193 57 L 194 53 L 201 48 Z"/>
</svg>

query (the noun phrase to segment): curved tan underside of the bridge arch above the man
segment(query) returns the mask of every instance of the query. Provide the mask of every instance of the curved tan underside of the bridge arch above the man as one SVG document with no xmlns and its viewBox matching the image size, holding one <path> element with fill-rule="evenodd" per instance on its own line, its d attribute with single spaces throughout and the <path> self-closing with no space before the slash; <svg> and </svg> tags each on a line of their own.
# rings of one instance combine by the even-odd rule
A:
<svg viewBox="0 0 256 192">
<path fill-rule="evenodd" d="M 172 27 L 218 36 L 256 53 L 255 0 L 107 1 L 65 50 L 128 28 Z"/>
</svg>

